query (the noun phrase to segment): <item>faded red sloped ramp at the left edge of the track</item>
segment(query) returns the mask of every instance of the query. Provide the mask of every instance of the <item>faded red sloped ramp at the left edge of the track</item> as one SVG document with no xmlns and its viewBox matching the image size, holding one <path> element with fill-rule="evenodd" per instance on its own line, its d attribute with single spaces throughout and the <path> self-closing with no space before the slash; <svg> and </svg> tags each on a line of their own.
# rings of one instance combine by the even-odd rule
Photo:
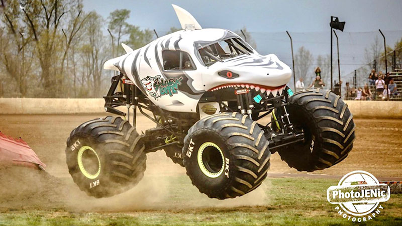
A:
<svg viewBox="0 0 402 226">
<path fill-rule="evenodd" d="M 14 139 L 2 132 L 0 132 L 0 165 L 23 165 L 35 168 L 46 166 L 23 139 Z"/>
</svg>

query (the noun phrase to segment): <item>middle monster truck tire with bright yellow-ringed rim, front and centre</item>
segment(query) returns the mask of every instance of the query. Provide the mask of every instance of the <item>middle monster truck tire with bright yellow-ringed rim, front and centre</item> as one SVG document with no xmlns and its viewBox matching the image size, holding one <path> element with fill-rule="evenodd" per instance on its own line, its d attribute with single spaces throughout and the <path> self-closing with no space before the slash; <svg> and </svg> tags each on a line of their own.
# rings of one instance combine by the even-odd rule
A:
<svg viewBox="0 0 402 226">
<path fill-rule="evenodd" d="M 237 112 L 206 117 L 184 139 L 184 166 L 191 182 L 210 198 L 234 198 L 258 187 L 271 153 L 257 122 Z"/>
</svg>

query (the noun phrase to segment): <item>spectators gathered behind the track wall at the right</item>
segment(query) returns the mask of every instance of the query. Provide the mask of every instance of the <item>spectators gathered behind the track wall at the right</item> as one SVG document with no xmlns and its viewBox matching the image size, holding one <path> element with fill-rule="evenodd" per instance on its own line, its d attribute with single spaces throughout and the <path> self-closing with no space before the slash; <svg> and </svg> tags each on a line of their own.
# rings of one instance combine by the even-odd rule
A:
<svg viewBox="0 0 402 226">
<path fill-rule="evenodd" d="M 316 74 L 316 78 L 313 80 L 312 84 L 310 84 L 309 88 L 323 88 L 325 83 L 321 78 L 321 68 L 317 67 L 314 70 Z M 339 94 L 341 90 L 342 81 L 339 81 L 334 86 L 334 93 Z M 388 89 L 386 88 L 388 85 Z M 296 82 L 296 92 L 305 90 L 305 84 L 303 77 L 300 77 Z M 373 92 L 371 91 L 373 90 Z M 374 91 L 375 90 L 375 91 Z M 343 91 L 343 97 L 345 99 L 353 99 L 353 100 L 374 100 L 374 99 L 386 99 L 388 96 L 394 97 L 397 96 L 397 85 L 393 81 L 393 78 L 389 76 L 389 73 L 383 74 L 382 71 L 378 73 L 375 72 L 374 69 L 371 70 L 371 73 L 368 76 L 368 83 L 364 85 L 364 87 L 351 87 L 349 82 L 346 82 L 346 87 Z"/>
</svg>

